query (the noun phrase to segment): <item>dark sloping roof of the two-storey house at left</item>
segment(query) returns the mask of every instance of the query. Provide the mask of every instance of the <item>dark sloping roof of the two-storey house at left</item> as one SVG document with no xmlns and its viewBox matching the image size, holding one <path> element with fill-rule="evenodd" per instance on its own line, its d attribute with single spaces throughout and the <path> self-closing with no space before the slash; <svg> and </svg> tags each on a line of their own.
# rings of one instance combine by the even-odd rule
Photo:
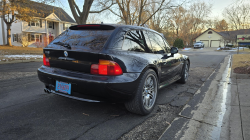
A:
<svg viewBox="0 0 250 140">
<path fill-rule="evenodd" d="M 46 18 L 50 14 L 54 13 L 61 21 L 75 23 L 75 21 L 60 7 L 55 7 L 34 1 L 30 1 L 29 3 L 23 3 L 22 5 L 24 7 L 29 7 L 37 11 L 36 13 L 32 13 L 32 16 Z"/>
</svg>

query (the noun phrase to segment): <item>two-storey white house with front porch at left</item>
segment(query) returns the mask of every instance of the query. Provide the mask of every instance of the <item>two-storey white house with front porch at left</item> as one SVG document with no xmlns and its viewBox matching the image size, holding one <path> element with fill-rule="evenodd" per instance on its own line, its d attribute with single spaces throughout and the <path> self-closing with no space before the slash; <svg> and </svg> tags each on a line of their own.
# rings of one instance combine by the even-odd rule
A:
<svg viewBox="0 0 250 140">
<path fill-rule="evenodd" d="M 75 21 L 60 7 L 33 2 L 33 8 L 38 11 L 33 13 L 31 22 L 17 21 L 11 26 L 11 41 L 14 46 L 22 46 L 20 34 L 26 34 L 29 47 L 46 46 L 55 37 L 75 25 Z M 25 6 L 25 5 L 24 5 Z M 41 14 L 42 13 L 42 14 Z M 0 45 L 7 43 L 7 28 L 3 20 L 0 21 Z"/>
</svg>

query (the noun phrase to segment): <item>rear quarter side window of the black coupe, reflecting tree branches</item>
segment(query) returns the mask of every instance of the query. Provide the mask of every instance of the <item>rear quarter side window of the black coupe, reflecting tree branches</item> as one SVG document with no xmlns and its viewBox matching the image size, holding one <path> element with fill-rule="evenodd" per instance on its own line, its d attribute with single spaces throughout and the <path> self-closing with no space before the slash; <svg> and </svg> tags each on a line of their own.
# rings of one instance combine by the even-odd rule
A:
<svg viewBox="0 0 250 140">
<path fill-rule="evenodd" d="M 127 32 L 122 50 L 135 51 L 135 52 L 152 52 L 149 48 L 148 37 L 141 30 L 132 30 Z"/>
</svg>

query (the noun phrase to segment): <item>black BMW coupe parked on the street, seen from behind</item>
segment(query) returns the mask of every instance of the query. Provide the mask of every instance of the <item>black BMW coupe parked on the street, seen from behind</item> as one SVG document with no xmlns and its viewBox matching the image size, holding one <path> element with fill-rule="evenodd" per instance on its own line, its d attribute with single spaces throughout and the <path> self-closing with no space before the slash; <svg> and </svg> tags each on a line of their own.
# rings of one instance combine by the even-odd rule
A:
<svg viewBox="0 0 250 140">
<path fill-rule="evenodd" d="M 186 83 L 190 60 L 160 33 L 129 25 L 71 26 L 43 49 L 44 91 L 81 101 L 122 102 L 152 112 L 158 89 Z"/>
</svg>

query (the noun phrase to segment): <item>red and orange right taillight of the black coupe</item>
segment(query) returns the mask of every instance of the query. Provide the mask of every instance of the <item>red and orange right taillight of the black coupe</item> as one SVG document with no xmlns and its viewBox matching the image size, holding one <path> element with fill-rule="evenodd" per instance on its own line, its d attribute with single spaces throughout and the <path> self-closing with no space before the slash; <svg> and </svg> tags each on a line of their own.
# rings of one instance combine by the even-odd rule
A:
<svg viewBox="0 0 250 140">
<path fill-rule="evenodd" d="M 122 75 L 121 67 L 114 61 L 99 60 L 99 64 L 91 65 L 91 74 L 97 75 Z"/>
</svg>

